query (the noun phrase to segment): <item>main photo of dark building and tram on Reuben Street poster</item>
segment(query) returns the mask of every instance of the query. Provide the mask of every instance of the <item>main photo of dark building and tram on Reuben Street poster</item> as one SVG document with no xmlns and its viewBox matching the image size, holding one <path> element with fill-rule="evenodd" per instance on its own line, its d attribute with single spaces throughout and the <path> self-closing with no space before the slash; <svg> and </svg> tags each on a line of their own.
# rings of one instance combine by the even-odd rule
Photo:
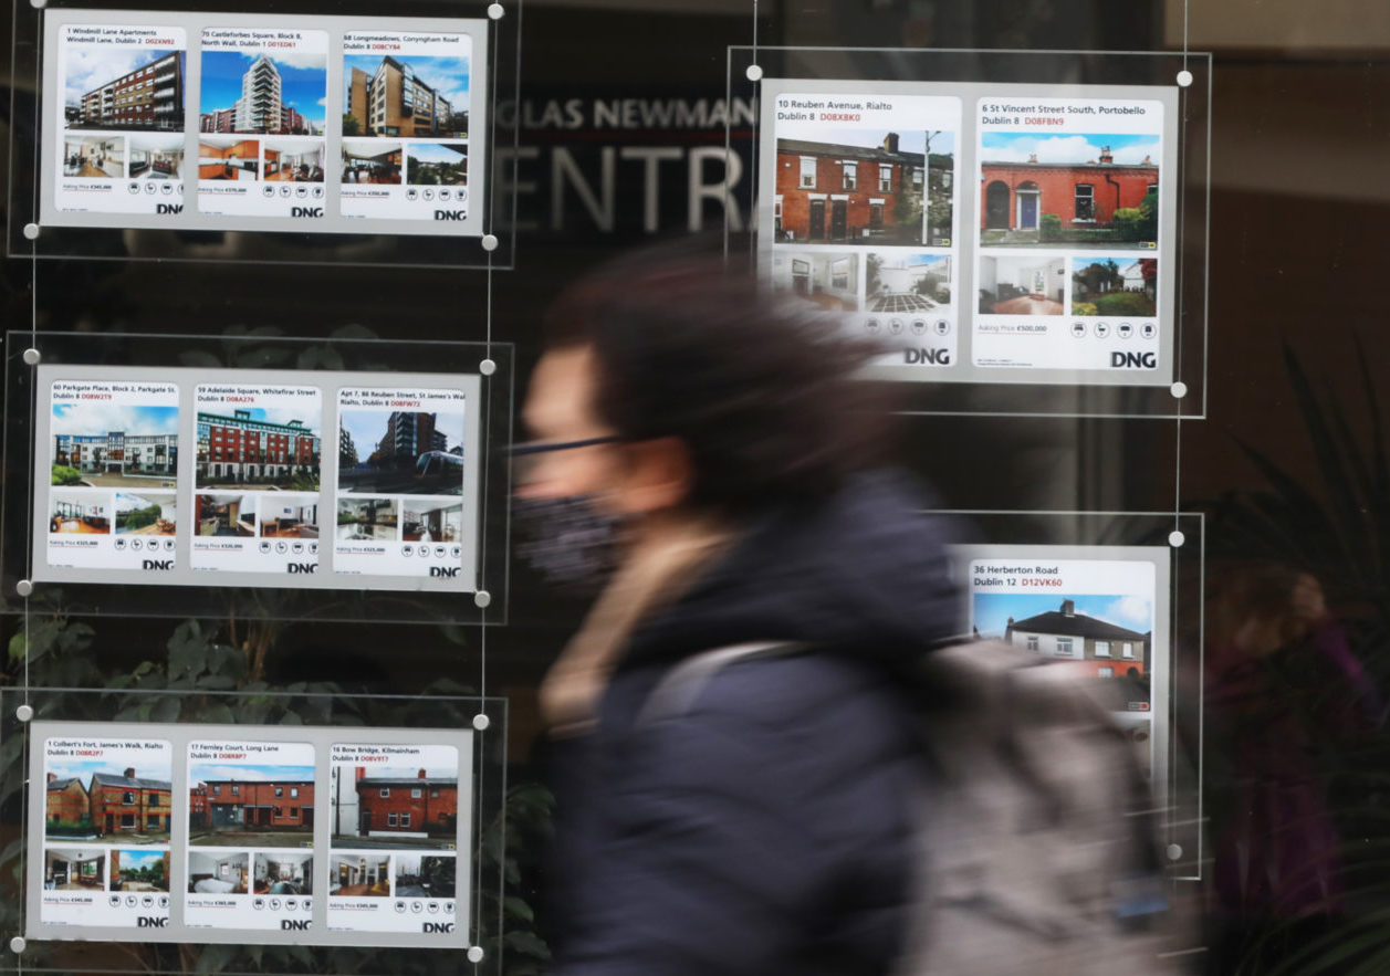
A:
<svg viewBox="0 0 1390 976">
<path fill-rule="evenodd" d="M 461 495 L 463 434 L 463 410 L 341 410 L 338 491 Z"/>
</svg>

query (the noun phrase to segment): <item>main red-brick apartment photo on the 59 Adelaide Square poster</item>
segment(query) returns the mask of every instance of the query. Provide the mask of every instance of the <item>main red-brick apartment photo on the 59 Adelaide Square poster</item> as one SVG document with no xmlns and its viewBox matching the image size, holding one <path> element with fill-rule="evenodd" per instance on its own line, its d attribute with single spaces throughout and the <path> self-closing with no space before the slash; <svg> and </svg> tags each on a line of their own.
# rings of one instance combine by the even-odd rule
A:
<svg viewBox="0 0 1390 976">
<path fill-rule="evenodd" d="M 309 407 L 246 407 L 197 413 L 197 485 L 318 491 L 318 431 Z"/>
</svg>

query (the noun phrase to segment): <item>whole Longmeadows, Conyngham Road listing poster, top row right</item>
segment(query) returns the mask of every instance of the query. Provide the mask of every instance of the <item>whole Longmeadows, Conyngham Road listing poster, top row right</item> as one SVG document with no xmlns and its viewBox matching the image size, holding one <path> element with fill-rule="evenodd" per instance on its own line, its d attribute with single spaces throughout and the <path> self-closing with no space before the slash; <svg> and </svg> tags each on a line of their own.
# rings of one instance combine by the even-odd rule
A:
<svg viewBox="0 0 1390 976">
<path fill-rule="evenodd" d="M 467 220 L 473 39 L 361 31 L 342 51 L 342 215 Z"/>
</svg>

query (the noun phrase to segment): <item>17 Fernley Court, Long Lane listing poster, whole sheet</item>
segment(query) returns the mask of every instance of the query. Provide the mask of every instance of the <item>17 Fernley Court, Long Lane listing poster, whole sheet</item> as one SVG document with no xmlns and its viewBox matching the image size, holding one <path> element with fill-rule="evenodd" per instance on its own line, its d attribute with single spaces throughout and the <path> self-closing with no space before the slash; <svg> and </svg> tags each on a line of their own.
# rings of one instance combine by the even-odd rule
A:
<svg viewBox="0 0 1390 976">
<path fill-rule="evenodd" d="M 313 744 L 189 742 L 185 925 L 307 930 L 314 811 Z"/>
</svg>

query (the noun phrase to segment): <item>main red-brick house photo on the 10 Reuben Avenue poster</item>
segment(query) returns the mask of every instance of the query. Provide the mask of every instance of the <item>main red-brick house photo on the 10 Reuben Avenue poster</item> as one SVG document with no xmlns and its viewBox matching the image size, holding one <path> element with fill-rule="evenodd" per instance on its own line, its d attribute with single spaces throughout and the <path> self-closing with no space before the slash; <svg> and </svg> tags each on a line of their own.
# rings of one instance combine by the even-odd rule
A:
<svg viewBox="0 0 1390 976">
<path fill-rule="evenodd" d="M 949 246 L 955 133 L 826 129 L 777 140 L 774 241 Z"/>
</svg>

